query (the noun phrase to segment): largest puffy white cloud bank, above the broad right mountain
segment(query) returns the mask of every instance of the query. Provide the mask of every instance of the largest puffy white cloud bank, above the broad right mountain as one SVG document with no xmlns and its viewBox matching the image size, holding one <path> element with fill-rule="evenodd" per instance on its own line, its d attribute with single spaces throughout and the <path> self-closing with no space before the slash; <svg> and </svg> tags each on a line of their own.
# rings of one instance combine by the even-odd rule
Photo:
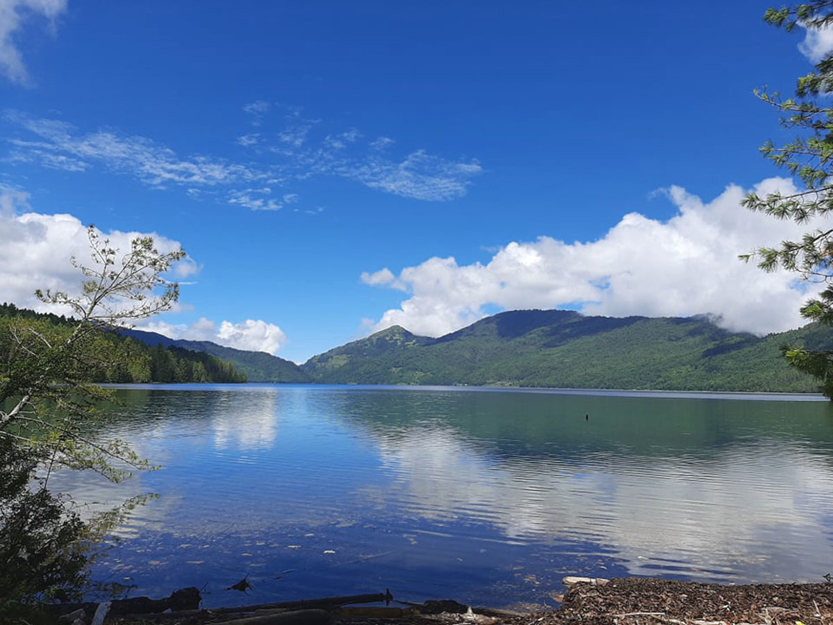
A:
<svg viewBox="0 0 833 625">
<path fill-rule="evenodd" d="M 791 181 L 771 178 L 756 191 L 776 188 L 784 193 L 793 189 Z M 429 258 L 402 269 L 398 277 L 387 268 L 363 273 L 365 283 L 411 293 L 371 329 L 399 324 L 436 337 L 484 317 L 486 306 L 571 306 L 616 317 L 711 313 L 726 328 L 754 333 L 804 323 L 798 308 L 819 286 L 796 281 L 795 273 L 761 272 L 737 256 L 797 238 L 807 225 L 741 208 L 744 191 L 735 185 L 710 203 L 679 187 L 667 194 L 678 208 L 672 218 L 661 222 L 628 213 L 593 242 L 541 237 L 508 243 L 486 264 L 461 266 L 451 257 Z"/>
</svg>

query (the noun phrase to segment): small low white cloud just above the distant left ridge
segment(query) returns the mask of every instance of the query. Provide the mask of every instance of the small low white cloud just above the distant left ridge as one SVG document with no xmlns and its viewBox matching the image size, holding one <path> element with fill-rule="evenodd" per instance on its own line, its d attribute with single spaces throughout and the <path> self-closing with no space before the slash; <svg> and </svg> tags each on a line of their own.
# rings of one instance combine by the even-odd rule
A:
<svg viewBox="0 0 833 625">
<path fill-rule="evenodd" d="M 154 319 L 140 324 L 137 328 L 163 334 L 168 338 L 212 341 L 227 348 L 271 354 L 287 343 L 287 335 L 281 328 L 262 319 L 247 319 L 240 323 L 222 321 L 219 326 L 212 319 L 204 317 L 191 324 L 174 324 Z"/>
</svg>

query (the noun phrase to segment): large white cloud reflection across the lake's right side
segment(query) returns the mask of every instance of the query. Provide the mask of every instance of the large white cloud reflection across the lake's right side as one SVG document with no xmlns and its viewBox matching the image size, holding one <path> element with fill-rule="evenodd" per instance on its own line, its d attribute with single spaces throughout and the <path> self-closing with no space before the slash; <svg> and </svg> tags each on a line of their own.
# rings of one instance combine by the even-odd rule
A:
<svg viewBox="0 0 833 625">
<path fill-rule="evenodd" d="M 833 561 L 833 468 L 799 446 L 576 462 L 496 459 L 447 428 L 378 444 L 409 513 L 476 517 L 528 542 L 591 540 L 614 547 L 633 574 L 791 578 L 821 575 Z"/>
</svg>

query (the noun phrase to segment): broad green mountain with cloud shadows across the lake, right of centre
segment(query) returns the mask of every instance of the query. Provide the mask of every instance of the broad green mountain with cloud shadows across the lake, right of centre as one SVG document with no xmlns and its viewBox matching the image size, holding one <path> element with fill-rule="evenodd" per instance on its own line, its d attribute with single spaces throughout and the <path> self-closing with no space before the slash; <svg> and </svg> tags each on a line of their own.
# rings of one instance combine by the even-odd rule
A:
<svg viewBox="0 0 833 625">
<path fill-rule="evenodd" d="M 302 371 L 317 383 L 817 391 L 784 363 L 784 344 L 833 348 L 833 332 L 811 324 L 757 337 L 706 317 L 511 311 L 440 338 L 393 326 L 319 354 Z"/>
</svg>

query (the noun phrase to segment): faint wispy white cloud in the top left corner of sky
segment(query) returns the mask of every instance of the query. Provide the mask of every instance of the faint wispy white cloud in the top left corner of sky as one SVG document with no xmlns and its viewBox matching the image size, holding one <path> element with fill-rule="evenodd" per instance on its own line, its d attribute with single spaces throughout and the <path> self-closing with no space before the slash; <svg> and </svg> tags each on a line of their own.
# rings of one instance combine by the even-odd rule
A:
<svg viewBox="0 0 833 625">
<path fill-rule="evenodd" d="M 18 84 L 30 84 L 15 35 L 32 17 L 42 17 L 52 28 L 67 10 L 67 0 L 0 0 L 0 73 Z"/>
</svg>

